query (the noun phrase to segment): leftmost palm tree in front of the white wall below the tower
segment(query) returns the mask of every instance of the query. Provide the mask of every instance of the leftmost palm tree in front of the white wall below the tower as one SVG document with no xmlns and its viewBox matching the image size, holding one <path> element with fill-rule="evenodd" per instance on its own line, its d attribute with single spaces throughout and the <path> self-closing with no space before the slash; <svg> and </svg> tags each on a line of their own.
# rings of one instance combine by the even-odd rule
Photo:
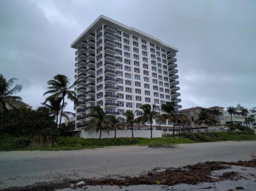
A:
<svg viewBox="0 0 256 191">
<path fill-rule="evenodd" d="M 93 117 L 92 120 L 86 123 L 86 129 L 90 132 L 100 132 L 99 139 L 101 138 L 101 131 L 109 131 L 111 129 L 111 122 L 109 118 L 100 106 L 94 106 L 91 109 L 90 115 Z"/>
</svg>

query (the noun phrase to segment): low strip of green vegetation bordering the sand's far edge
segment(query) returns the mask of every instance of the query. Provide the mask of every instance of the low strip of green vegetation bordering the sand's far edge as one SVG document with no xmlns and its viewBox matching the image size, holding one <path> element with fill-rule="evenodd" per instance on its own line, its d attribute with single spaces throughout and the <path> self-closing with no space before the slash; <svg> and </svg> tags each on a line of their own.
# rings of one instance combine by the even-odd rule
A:
<svg viewBox="0 0 256 191">
<path fill-rule="evenodd" d="M 196 142 L 212 141 L 241 141 L 256 140 L 256 135 L 252 131 L 229 131 L 214 132 L 208 134 L 186 133 L 184 137 L 162 137 L 162 138 L 77 138 L 70 136 L 58 136 L 53 145 L 36 145 L 33 138 L 27 136 L 16 137 L 11 135 L 0 136 L 0 150 L 76 150 L 93 149 L 110 146 L 148 146 L 148 147 L 175 147 L 179 144 L 190 144 Z"/>
</svg>

